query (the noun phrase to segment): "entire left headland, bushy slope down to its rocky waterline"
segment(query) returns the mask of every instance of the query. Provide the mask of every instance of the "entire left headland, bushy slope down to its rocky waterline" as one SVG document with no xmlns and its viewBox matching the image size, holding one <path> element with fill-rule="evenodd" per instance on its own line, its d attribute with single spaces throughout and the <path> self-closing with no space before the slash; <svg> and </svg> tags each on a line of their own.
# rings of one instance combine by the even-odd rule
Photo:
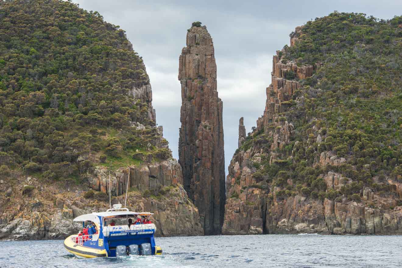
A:
<svg viewBox="0 0 402 268">
<path fill-rule="evenodd" d="M 0 41 L 0 239 L 67 237 L 75 217 L 108 209 L 109 191 L 124 203 L 127 189 L 156 235 L 203 235 L 123 30 L 71 2 L 9 1 L 0 35 L 18 40 Z"/>
</svg>

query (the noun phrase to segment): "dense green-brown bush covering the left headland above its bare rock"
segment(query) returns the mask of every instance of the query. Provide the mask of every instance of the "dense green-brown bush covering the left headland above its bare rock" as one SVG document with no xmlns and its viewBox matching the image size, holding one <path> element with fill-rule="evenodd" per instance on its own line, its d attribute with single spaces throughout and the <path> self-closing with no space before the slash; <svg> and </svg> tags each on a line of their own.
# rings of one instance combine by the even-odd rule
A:
<svg viewBox="0 0 402 268">
<path fill-rule="evenodd" d="M 0 1 L 0 177 L 24 170 L 79 181 L 96 164 L 132 164 L 133 154 L 136 163 L 169 158 L 156 147 L 167 141 L 154 138 L 147 86 L 125 31 L 98 12 Z"/>
</svg>

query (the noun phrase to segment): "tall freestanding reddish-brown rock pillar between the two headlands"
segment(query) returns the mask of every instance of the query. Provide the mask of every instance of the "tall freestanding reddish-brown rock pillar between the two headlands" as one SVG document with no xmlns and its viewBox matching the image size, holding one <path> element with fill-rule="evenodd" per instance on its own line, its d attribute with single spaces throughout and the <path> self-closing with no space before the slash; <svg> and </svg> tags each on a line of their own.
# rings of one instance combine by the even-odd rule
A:
<svg viewBox="0 0 402 268">
<path fill-rule="evenodd" d="M 205 234 L 219 234 L 225 206 L 225 162 L 213 42 L 203 26 L 189 29 L 186 44 L 179 57 L 179 163 Z"/>
</svg>

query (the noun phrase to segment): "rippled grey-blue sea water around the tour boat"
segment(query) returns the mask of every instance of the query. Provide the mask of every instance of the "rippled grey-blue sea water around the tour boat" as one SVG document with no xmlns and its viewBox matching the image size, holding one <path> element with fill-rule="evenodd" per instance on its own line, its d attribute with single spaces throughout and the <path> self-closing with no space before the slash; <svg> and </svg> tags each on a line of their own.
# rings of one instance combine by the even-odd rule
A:
<svg viewBox="0 0 402 268">
<path fill-rule="evenodd" d="M 235 235 L 156 237 L 162 256 L 80 259 L 63 240 L 0 241 L 10 268 L 393 268 L 402 267 L 402 236 Z"/>
</svg>

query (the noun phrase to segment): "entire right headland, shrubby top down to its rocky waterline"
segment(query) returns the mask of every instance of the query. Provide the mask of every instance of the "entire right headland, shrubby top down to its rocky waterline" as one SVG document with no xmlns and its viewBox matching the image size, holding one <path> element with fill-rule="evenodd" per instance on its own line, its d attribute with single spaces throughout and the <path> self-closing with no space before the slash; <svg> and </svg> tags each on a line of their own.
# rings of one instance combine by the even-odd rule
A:
<svg viewBox="0 0 402 268">
<path fill-rule="evenodd" d="M 400 233 L 401 54 L 402 16 L 296 27 L 229 166 L 224 233 Z"/>
</svg>

